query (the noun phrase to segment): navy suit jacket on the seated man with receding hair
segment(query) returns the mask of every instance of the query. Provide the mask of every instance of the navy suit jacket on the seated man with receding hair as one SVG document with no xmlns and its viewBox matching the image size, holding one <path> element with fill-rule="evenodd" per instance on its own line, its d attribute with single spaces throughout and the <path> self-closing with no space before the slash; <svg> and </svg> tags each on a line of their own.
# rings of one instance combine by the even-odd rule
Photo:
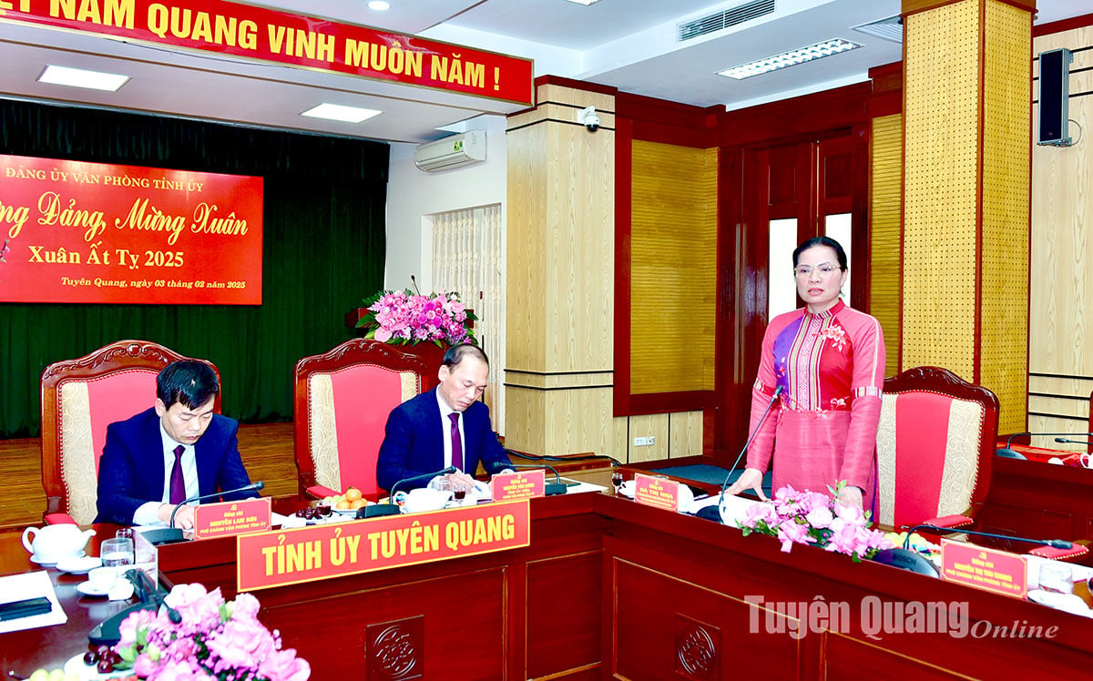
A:
<svg viewBox="0 0 1093 681">
<path fill-rule="evenodd" d="M 383 489 L 390 490 L 399 480 L 444 468 L 442 437 L 447 430 L 440 427 L 440 406 L 436 400 L 436 388 L 433 388 L 402 402 L 387 418 L 376 462 L 376 480 Z M 512 465 L 493 433 L 490 408 L 482 402 L 474 402 L 463 412 L 463 470 L 471 475 L 478 470 L 479 461 L 491 474 Z M 427 482 L 408 484 L 404 489 L 424 486 Z"/>
</svg>

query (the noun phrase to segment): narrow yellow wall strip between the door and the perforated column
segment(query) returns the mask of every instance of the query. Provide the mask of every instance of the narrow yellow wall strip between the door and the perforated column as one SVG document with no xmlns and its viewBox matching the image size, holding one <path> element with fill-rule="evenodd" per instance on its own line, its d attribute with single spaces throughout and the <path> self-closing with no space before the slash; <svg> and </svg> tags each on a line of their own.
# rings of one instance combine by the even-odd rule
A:
<svg viewBox="0 0 1093 681">
<path fill-rule="evenodd" d="M 900 372 L 900 207 L 903 190 L 903 116 L 873 119 L 869 196 L 871 247 L 869 312 L 884 330 L 884 375 Z"/>
</svg>

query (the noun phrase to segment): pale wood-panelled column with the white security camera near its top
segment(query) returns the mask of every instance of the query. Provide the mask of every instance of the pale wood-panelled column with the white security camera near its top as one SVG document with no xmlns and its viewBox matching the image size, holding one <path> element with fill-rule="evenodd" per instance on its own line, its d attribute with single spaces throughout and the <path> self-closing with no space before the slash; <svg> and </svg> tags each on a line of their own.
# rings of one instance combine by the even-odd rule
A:
<svg viewBox="0 0 1093 681">
<path fill-rule="evenodd" d="M 541 79 L 536 101 L 508 119 L 505 444 L 613 454 L 614 91 Z"/>
</svg>

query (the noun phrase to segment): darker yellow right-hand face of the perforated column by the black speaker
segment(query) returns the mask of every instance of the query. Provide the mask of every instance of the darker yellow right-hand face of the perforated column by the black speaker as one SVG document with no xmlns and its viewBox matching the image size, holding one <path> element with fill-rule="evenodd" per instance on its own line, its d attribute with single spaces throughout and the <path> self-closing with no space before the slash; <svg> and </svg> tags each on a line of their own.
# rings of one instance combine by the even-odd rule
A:
<svg viewBox="0 0 1093 681">
<path fill-rule="evenodd" d="M 999 432 L 1016 433 L 1029 365 L 1032 30 L 1027 10 L 996 1 L 985 10 L 979 383 L 998 396 Z"/>
</svg>

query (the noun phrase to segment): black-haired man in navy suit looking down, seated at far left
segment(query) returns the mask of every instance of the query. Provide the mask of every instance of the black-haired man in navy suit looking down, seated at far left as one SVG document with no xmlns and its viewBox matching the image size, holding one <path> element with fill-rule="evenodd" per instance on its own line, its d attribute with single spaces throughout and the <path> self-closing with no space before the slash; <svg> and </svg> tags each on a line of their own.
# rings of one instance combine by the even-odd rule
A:
<svg viewBox="0 0 1093 681">
<path fill-rule="evenodd" d="M 166 524 L 185 498 L 250 484 L 235 437 L 238 422 L 213 413 L 220 381 L 211 366 L 168 364 L 155 378 L 155 407 L 106 428 L 95 523 Z M 258 494 L 223 498 L 251 496 Z M 193 527 L 192 506 L 178 509 L 175 526 Z"/>
</svg>

